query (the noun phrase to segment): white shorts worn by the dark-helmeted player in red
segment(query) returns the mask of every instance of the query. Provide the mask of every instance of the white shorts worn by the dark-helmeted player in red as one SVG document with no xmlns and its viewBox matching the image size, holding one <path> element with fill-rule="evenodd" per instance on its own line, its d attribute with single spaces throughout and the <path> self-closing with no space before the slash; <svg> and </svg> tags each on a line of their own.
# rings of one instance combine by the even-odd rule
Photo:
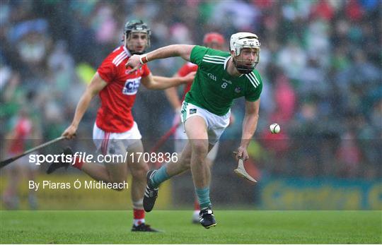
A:
<svg viewBox="0 0 382 245">
<path fill-rule="evenodd" d="M 141 133 L 138 125 L 134 121 L 132 129 L 123 133 L 108 133 L 98 128 L 97 124 L 93 127 L 93 142 L 97 151 L 103 155 L 125 155 L 130 145 L 141 141 Z"/>
</svg>

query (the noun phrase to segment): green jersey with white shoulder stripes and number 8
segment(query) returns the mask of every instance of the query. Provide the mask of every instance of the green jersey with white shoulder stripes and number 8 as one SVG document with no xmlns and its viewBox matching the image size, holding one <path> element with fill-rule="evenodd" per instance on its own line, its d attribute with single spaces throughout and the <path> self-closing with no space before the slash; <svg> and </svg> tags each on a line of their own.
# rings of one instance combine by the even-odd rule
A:
<svg viewBox="0 0 382 245">
<path fill-rule="evenodd" d="M 195 46 L 190 61 L 198 68 L 185 102 L 223 116 L 238 97 L 244 96 L 251 102 L 258 100 L 262 91 L 260 74 L 253 70 L 238 77 L 229 75 L 226 66 L 230 57 L 228 52 Z"/>
</svg>

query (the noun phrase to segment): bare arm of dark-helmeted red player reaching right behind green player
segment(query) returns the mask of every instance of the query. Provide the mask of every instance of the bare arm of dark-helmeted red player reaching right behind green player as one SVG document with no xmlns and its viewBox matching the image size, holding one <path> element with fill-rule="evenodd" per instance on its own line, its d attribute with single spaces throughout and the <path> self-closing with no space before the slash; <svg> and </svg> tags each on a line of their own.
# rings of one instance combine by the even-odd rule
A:
<svg viewBox="0 0 382 245">
<path fill-rule="evenodd" d="M 141 78 L 141 83 L 151 90 L 163 90 L 183 83 L 191 83 L 195 78 L 195 71 L 184 77 L 166 78 L 164 76 L 149 76 Z"/>
</svg>

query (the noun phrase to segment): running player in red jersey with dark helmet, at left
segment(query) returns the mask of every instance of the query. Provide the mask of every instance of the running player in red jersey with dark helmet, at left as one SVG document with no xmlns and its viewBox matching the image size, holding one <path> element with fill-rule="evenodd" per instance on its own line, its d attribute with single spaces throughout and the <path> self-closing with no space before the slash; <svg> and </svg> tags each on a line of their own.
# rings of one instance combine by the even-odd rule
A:
<svg viewBox="0 0 382 245">
<path fill-rule="evenodd" d="M 141 20 L 132 20 L 126 23 L 123 36 L 124 44 L 109 54 L 99 66 L 77 104 L 71 125 L 62 133 L 62 136 L 69 139 L 74 138 L 91 99 L 98 94 L 101 106 L 98 109 L 93 128 L 93 142 L 97 150 L 103 155 L 125 156 L 126 152 L 129 154 L 143 153 L 141 133 L 139 133 L 137 123 L 132 116 L 132 107 L 140 83 L 149 89 L 163 90 L 171 86 L 188 83 L 195 76 L 195 73 L 185 78 L 152 76 L 146 64 L 137 71 L 129 73 L 129 70 L 125 68 L 127 60 L 133 54 L 144 54 L 145 49 L 150 45 L 150 34 L 151 30 Z M 73 152 L 70 148 L 66 148 L 64 154 L 73 155 Z M 86 172 L 93 179 L 117 184 L 125 183 L 127 169 L 129 169 L 132 174 L 131 191 L 134 209 L 132 231 L 156 232 L 155 229 L 146 225 L 142 205 L 146 186 L 146 172 L 149 167 L 143 160 L 137 162 L 137 158 L 135 157 L 134 162 L 127 159 L 127 162 L 113 162 L 105 165 L 82 162 L 77 158 L 72 166 Z M 69 166 L 69 163 L 53 163 L 47 173 L 50 174 L 55 169 L 66 166 Z"/>
</svg>

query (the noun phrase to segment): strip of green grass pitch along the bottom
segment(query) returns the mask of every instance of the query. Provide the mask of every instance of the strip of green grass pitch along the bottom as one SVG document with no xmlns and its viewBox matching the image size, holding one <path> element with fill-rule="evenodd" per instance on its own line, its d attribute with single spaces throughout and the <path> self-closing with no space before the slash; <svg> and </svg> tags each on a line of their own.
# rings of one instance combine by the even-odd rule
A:
<svg viewBox="0 0 382 245">
<path fill-rule="evenodd" d="M 190 211 L 153 211 L 163 230 L 129 232 L 131 211 L 1 211 L 1 244 L 381 244 L 381 211 L 215 211 L 218 225 Z"/>
</svg>

